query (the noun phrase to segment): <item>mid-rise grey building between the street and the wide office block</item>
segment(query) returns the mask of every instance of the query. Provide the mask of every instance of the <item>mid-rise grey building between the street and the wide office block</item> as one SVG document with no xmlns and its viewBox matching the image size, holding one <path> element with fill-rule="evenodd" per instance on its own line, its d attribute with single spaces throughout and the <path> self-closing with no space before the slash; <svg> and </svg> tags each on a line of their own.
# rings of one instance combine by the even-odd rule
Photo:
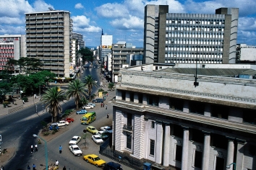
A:
<svg viewBox="0 0 256 170">
<path fill-rule="evenodd" d="M 139 59 L 136 58 L 134 55 L 141 55 L 143 56 L 143 48 L 136 48 L 132 46 L 132 43 L 127 42 L 116 42 L 116 44 L 112 45 L 112 82 L 118 81 L 118 74 L 120 68 L 123 68 L 122 65 L 128 65 L 132 59 Z M 133 56 L 131 56 L 133 55 Z M 127 62 L 128 59 L 128 62 Z M 136 62 L 133 62 L 135 64 Z M 140 63 L 140 62 L 139 62 Z"/>
</svg>

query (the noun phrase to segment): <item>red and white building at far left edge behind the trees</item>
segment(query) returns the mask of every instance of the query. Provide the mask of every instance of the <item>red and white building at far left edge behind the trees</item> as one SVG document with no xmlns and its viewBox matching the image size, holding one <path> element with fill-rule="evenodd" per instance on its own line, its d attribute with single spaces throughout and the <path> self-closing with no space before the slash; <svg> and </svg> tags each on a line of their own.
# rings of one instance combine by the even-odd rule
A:
<svg viewBox="0 0 256 170">
<path fill-rule="evenodd" d="M 26 57 L 25 35 L 0 35 L 0 71 L 5 70 L 9 59 Z M 19 68 L 11 68 L 18 70 Z"/>
</svg>

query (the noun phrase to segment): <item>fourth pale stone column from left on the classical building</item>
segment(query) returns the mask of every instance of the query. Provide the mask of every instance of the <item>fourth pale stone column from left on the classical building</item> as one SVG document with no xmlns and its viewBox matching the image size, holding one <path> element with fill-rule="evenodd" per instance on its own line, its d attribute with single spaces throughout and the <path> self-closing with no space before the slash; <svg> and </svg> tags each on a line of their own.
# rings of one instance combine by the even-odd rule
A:
<svg viewBox="0 0 256 170">
<path fill-rule="evenodd" d="M 202 153 L 202 170 L 209 169 L 209 156 L 210 156 L 210 133 L 202 131 L 205 134 Z"/>
</svg>

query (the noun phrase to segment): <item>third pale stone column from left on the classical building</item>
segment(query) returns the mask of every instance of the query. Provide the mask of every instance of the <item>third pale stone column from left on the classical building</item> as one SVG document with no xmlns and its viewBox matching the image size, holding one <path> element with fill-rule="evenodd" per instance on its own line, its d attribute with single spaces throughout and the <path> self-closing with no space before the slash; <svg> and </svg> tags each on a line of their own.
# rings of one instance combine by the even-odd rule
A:
<svg viewBox="0 0 256 170">
<path fill-rule="evenodd" d="M 183 146 L 182 146 L 182 170 L 187 170 L 189 155 L 189 128 L 183 128 Z"/>
</svg>

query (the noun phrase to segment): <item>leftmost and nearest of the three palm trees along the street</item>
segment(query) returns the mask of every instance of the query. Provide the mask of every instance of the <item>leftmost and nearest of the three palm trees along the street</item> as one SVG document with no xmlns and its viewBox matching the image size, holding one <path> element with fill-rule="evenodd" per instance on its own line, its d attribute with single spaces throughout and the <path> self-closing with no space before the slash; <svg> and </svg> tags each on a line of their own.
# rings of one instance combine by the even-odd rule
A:
<svg viewBox="0 0 256 170">
<path fill-rule="evenodd" d="M 49 109 L 49 113 L 52 116 L 52 122 L 57 122 L 57 115 L 62 112 L 60 102 L 65 99 L 64 91 L 58 89 L 57 86 L 54 86 L 48 89 L 42 97 L 43 104 L 46 104 L 46 111 Z"/>
</svg>

